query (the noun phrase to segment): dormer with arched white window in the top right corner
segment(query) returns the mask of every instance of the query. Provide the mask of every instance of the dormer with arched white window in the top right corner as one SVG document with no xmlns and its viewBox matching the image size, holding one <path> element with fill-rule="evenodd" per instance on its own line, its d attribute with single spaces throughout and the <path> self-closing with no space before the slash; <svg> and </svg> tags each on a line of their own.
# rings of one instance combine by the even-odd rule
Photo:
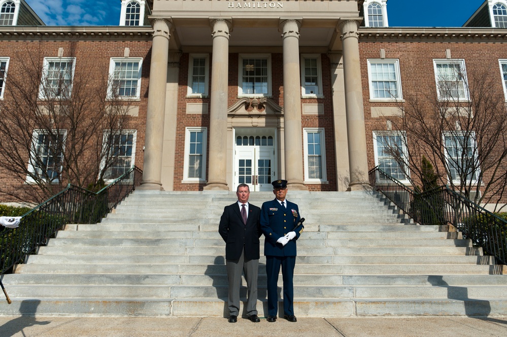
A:
<svg viewBox="0 0 507 337">
<path fill-rule="evenodd" d="M 486 0 L 463 27 L 507 28 L 507 0 Z"/>
</svg>

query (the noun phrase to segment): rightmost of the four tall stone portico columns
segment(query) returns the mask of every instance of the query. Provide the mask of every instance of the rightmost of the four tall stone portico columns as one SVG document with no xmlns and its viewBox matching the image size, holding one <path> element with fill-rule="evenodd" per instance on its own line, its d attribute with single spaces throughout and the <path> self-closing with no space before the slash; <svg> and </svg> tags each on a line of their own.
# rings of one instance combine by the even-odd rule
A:
<svg viewBox="0 0 507 337">
<path fill-rule="evenodd" d="M 343 44 L 350 190 L 371 189 L 368 181 L 368 161 L 366 157 L 358 27 L 359 22 L 355 20 L 345 21 L 339 27 Z"/>
</svg>

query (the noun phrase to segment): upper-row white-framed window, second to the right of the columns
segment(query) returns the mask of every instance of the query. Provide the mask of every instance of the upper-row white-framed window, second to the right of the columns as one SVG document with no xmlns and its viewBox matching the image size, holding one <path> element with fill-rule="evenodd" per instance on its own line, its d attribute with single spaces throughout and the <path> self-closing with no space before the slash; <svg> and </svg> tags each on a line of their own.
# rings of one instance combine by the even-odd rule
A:
<svg viewBox="0 0 507 337">
<path fill-rule="evenodd" d="M 465 60 L 433 60 L 438 99 L 468 100 Z"/>
</svg>

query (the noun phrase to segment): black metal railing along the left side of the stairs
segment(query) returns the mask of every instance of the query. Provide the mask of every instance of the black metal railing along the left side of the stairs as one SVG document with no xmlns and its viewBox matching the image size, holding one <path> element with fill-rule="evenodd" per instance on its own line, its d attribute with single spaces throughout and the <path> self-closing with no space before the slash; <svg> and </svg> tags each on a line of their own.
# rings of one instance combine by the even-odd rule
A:
<svg viewBox="0 0 507 337">
<path fill-rule="evenodd" d="M 47 244 L 67 223 L 97 223 L 139 186 L 142 171 L 133 167 L 97 193 L 72 184 L 23 214 L 18 228 L 0 232 L 0 275 Z"/>
</svg>

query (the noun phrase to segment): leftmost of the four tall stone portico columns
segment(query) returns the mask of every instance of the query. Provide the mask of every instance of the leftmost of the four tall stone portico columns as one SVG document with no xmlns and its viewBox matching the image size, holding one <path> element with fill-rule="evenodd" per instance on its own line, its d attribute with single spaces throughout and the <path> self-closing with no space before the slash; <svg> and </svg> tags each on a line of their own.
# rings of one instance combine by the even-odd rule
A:
<svg viewBox="0 0 507 337">
<path fill-rule="evenodd" d="M 162 190 L 162 147 L 164 135 L 165 90 L 171 22 L 155 19 L 151 47 L 148 111 L 144 149 L 143 180 L 140 189 Z"/>
</svg>

